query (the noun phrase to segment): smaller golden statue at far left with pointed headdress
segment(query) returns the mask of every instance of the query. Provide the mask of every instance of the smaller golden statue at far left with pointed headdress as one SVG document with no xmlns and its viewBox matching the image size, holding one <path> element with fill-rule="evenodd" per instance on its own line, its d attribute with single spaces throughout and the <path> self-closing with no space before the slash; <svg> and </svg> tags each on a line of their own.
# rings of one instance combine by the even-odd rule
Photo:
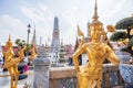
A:
<svg viewBox="0 0 133 88">
<path fill-rule="evenodd" d="M 24 51 L 27 46 L 23 45 L 23 47 L 19 51 L 19 57 L 14 57 L 13 48 L 12 48 L 12 42 L 11 37 L 9 36 L 9 41 L 6 44 L 6 52 L 3 52 L 4 56 L 4 65 L 3 68 L 7 68 L 10 77 L 11 77 L 11 87 L 10 88 L 18 88 L 18 78 L 19 78 L 19 72 L 18 72 L 18 64 L 24 59 Z M 33 54 L 31 54 L 33 55 Z M 13 78 L 16 79 L 13 81 Z"/>
</svg>

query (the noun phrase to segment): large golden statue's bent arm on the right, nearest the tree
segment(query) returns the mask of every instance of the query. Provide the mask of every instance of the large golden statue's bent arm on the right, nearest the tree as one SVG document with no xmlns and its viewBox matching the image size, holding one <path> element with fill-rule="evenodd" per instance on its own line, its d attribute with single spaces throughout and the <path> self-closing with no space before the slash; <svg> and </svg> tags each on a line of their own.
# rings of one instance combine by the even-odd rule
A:
<svg viewBox="0 0 133 88">
<path fill-rule="evenodd" d="M 119 65 L 120 64 L 120 61 L 119 61 L 119 57 L 116 56 L 116 54 L 114 53 L 114 51 L 110 47 L 110 46 L 106 46 L 106 58 L 115 64 L 115 65 Z"/>
</svg>

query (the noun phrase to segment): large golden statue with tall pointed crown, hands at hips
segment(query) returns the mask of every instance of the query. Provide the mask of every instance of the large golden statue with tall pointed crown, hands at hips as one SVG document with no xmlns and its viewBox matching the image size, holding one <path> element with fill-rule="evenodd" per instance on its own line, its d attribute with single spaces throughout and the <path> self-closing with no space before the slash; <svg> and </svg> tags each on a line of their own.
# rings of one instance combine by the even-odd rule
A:
<svg viewBox="0 0 133 88">
<path fill-rule="evenodd" d="M 73 64 L 76 69 L 78 88 L 101 88 L 102 81 L 102 67 L 103 62 L 108 58 L 111 63 L 119 65 L 120 61 L 114 51 L 109 45 L 106 33 L 104 32 L 103 24 L 98 20 L 96 0 L 93 21 L 90 24 L 90 36 L 92 41 L 84 43 L 84 35 L 78 26 L 78 34 L 82 36 L 81 44 L 73 54 Z M 112 25 L 108 25 L 110 32 L 114 31 Z M 89 57 L 88 64 L 83 67 L 79 67 L 78 57 L 82 53 L 86 53 Z"/>
</svg>

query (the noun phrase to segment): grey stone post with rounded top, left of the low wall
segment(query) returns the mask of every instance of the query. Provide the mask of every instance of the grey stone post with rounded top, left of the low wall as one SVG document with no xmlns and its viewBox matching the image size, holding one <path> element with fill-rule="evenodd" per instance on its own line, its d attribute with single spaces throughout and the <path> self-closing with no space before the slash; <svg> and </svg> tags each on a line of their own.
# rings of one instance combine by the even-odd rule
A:
<svg viewBox="0 0 133 88">
<path fill-rule="evenodd" d="M 50 61 L 43 57 L 33 61 L 33 88 L 49 88 L 49 64 Z"/>
</svg>

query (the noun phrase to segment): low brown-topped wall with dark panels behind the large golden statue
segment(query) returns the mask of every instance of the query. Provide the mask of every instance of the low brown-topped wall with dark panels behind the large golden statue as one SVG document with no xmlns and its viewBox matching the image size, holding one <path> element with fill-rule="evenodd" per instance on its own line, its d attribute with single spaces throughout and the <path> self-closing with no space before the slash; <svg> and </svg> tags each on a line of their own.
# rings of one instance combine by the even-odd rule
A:
<svg viewBox="0 0 133 88">
<path fill-rule="evenodd" d="M 50 68 L 50 88 L 76 88 L 76 73 L 73 66 Z M 119 67 L 103 65 L 102 88 L 123 88 Z"/>
</svg>

